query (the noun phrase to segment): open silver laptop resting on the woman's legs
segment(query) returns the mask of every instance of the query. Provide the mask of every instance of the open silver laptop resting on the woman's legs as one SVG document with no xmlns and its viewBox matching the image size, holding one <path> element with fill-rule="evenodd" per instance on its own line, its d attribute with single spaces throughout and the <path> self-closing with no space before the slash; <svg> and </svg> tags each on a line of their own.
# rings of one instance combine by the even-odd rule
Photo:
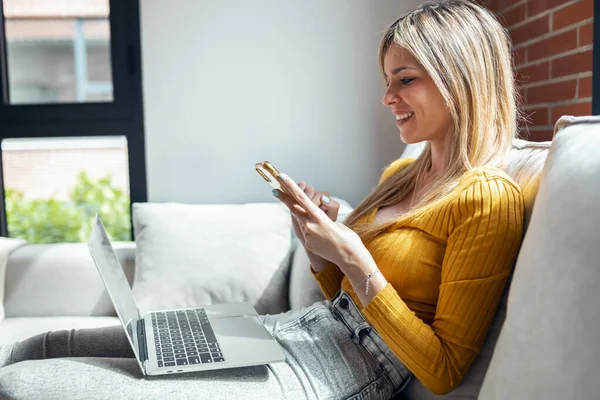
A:
<svg viewBox="0 0 600 400">
<path fill-rule="evenodd" d="M 250 303 L 140 313 L 96 216 L 88 248 L 144 375 L 263 365 L 285 360 Z"/>
</svg>

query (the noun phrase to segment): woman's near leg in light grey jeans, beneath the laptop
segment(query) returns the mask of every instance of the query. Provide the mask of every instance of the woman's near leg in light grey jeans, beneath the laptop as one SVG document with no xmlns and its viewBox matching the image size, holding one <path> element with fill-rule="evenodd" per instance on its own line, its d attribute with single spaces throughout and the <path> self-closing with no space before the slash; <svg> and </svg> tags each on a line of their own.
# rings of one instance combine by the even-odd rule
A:
<svg viewBox="0 0 600 400">
<path fill-rule="evenodd" d="M 0 368 L 0 398 L 298 399 L 305 388 L 297 380 L 284 363 L 144 377 L 134 358 L 52 358 Z"/>
</svg>

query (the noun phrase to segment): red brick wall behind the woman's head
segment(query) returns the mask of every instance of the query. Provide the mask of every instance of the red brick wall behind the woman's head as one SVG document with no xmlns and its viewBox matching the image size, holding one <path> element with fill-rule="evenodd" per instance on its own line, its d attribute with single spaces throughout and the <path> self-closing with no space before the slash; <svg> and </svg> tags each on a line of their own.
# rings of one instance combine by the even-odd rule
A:
<svg viewBox="0 0 600 400">
<path fill-rule="evenodd" d="M 508 28 L 529 122 L 521 136 L 551 140 L 561 115 L 592 113 L 594 0 L 486 0 Z"/>
</svg>

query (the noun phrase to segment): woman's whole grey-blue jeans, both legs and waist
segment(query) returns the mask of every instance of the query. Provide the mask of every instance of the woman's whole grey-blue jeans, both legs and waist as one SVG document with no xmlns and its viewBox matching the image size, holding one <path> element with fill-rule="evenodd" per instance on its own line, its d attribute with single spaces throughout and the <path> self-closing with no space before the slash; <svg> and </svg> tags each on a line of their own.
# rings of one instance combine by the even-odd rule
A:
<svg viewBox="0 0 600 400">
<path fill-rule="evenodd" d="M 52 359 L 0 368 L 0 397 L 153 399 L 169 393 L 169 398 L 195 399 L 390 399 L 411 379 L 345 292 L 261 318 L 283 347 L 285 362 L 143 377 L 121 326 L 57 331 L 15 344 L 17 356 Z M 35 385 L 24 384 L 32 380 Z"/>
</svg>

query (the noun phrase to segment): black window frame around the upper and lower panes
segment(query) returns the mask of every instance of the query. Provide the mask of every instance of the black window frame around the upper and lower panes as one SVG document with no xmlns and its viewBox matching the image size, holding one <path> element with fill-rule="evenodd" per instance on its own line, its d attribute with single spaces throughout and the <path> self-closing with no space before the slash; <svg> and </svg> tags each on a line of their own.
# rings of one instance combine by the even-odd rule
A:
<svg viewBox="0 0 600 400">
<path fill-rule="evenodd" d="M 109 0 L 113 102 L 9 103 L 3 1 L 0 0 L 0 143 L 13 138 L 125 136 L 131 204 L 146 202 L 138 0 Z M 8 236 L 0 151 L 0 236 Z M 132 224 L 133 239 L 133 224 Z"/>
</svg>

